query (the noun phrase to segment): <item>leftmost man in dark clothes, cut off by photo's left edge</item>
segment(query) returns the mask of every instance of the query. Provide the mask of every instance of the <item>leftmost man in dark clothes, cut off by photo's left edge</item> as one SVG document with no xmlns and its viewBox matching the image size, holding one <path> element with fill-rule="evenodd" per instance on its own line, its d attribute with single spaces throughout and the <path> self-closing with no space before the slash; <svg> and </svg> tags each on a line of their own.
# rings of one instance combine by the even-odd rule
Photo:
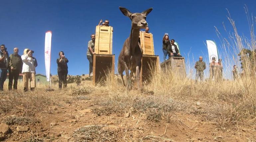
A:
<svg viewBox="0 0 256 142">
<path fill-rule="evenodd" d="M 7 77 L 7 69 L 9 67 L 9 55 L 5 45 L 0 46 L 0 91 L 4 89 L 4 82 Z"/>
</svg>

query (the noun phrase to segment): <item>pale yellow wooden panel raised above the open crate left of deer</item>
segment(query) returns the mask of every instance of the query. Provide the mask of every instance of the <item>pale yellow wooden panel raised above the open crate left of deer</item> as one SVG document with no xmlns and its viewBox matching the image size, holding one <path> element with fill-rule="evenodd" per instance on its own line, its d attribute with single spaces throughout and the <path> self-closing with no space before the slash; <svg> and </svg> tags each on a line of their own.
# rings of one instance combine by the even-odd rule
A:
<svg viewBox="0 0 256 142">
<path fill-rule="evenodd" d="M 94 47 L 96 54 L 112 54 L 112 30 L 111 26 L 96 26 Z"/>
</svg>

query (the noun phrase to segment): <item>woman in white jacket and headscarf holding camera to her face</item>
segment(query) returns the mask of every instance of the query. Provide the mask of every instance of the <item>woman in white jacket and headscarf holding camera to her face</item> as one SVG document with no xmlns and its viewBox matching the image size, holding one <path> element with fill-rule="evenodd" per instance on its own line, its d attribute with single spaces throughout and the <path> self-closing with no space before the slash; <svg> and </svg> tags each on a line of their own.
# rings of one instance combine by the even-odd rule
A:
<svg viewBox="0 0 256 142">
<path fill-rule="evenodd" d="M 32 58 L 32 50 L 25 49 L 23 55 L 21 56 L 23 66 L 22 66 L 22 74 L 23 74 L 23 87 L 24 91 L 28 91 L 29 83 L 30 88 L 33 91 L 36 87 L 36 79 L 35 79 L 35 65 Z M 30 80 L 29 80 L 30 79 Z"/>
</svg>

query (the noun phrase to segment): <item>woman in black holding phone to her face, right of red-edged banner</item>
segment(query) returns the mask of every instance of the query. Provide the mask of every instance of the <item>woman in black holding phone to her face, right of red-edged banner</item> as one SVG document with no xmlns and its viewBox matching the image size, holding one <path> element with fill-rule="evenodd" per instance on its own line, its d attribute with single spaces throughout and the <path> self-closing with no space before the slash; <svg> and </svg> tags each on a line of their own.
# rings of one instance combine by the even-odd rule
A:
<svg viewBox="0 0 256 142">
<path fill-rule="evenodd" d="M 59 58 L 57 59 L 58 64 L 58 76 L 59 76 L 59 89 L 67 87 L 67 63 L 68 59 L 64 56 L 64 52 L 59 52 Z"/>
</svg>

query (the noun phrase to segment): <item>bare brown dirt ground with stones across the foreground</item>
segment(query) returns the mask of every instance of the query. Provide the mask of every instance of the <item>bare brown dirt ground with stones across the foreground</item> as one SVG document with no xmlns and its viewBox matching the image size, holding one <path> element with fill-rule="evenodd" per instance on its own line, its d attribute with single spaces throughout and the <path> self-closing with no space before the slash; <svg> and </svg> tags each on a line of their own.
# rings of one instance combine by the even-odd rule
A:
<svg viewBox="0 0 256 142">
<path fill-rule="evenodd" d="M 146 113 L 111 113 L 97 115 L 94 100 L 86 96 L 72 96 L 56 90 L 60 99 L 57 103 L 42 107 L 35 114 L 36 121 L 9 125 L 11 133 L 5 141 L 112 141 L 112 142 L 254 142 L 256 127 L 246 124 L 234 124 L 220 128 L 216 122 L 205 121 L 201 115 L 175 112 L 169 121 L 158 123 L 147 120 Z M 51 92 L 48 93 L 51 95 Z M 20 117 L 21 112 L 11 111 L 3 118 Z M 2 121 L 3 123 L 4 121 Z M 33 123 L 32 123 L 33 122 Z M 36 122 L 36 123 L 35 123 Z M 17 131 L 17 126 L 28 126 L 28 131 Z M 2 135 L 2 134 L 1 134 Z"/>
</svg>

